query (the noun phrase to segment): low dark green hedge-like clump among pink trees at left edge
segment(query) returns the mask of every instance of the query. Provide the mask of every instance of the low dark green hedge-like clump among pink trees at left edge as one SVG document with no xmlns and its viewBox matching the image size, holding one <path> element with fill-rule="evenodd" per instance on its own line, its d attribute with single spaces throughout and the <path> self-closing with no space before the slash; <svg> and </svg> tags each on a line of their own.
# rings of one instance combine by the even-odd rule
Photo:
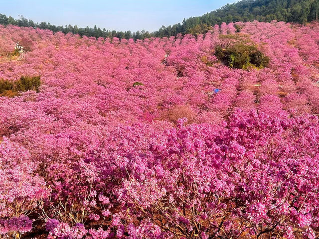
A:
<svg viewBox="0 0 319 239">
<path fill-rule="evenodd" d="M 17 81 L 0 79 L 0 96 L 13 97 L 18 92 L 36 91 L 39 92 L 41 81 L 39 76 L 21 76 Z"/>
</svg>

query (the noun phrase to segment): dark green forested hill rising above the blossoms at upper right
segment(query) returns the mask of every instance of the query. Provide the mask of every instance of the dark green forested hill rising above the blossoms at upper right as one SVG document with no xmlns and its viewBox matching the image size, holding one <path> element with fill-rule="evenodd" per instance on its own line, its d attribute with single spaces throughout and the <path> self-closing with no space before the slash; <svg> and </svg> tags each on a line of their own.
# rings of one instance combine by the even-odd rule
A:
<svg viewBox="0 0 319 239">
<path fill-rule="evenodd" d="M 184 19 L 173 26 L 162 26 L 156 36 L 178 33 L 199 34 L 209 26 L 236 21 L 286 21 L 305 24 L 319 20 L 319 0 L 242 0 L 227 4 L 203 16 Z"/>
</svg>

